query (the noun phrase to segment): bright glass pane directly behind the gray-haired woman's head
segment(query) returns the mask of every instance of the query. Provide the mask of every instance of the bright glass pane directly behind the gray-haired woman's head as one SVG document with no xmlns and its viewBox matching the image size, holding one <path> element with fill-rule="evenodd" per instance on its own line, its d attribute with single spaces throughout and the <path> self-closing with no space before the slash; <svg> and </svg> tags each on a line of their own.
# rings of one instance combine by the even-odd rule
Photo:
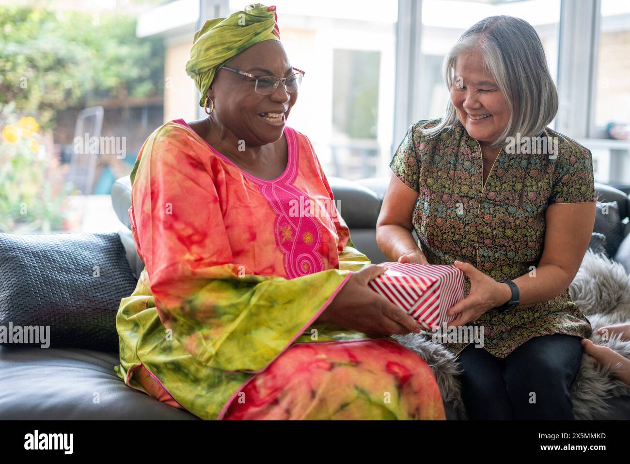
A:
<svg viewBox="0 0 630 464">
<path fill-rule="evenodd" d="M 451 1 L 422 3 L 422 63 L 420 118 L 442 117 L 449 92 L 442 79 L 442 60 L 470 26 L 488 16 L 509 15 L 534 26 L 541 37 L 551 76 L 558 74 L 560 0 Z M 553 123 L 551 124 L 553 127 Z"/>
</svg>

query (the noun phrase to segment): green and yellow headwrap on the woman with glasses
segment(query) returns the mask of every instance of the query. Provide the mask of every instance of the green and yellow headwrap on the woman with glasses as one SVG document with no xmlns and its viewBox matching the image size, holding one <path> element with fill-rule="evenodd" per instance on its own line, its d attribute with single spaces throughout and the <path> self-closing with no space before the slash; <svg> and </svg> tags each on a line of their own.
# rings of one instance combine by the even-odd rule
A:
<svg viewBox="0 0 630 464">
<path fill-rule="evenodd" d="M 280 40 L 277 18 L 275 6 L 256 3 L 227 18 L 205 21 L 195 33 L 190 60 L 186 62 L 186 74 L 193 78 L 201 92 L 200 107 L 203 107 L 205 93 L 221 66 L 252 45 L 265 40 Z"/>
</svg>

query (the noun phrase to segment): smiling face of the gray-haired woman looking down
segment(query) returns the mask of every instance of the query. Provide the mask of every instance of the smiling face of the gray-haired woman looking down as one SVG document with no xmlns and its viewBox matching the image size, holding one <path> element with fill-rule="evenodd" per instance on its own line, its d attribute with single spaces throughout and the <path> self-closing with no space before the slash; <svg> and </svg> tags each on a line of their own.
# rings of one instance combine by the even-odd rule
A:
<svg viewBox="0 0 630 464">
<path fill-rule="evenodd" d="M 484 72 L 483 59 L 478 52 L 457 57 L 450 100 L 459 121 L 479 142 L 494 142 L 510 120 L 508 102 L 495 79 Z"/>
</svg>

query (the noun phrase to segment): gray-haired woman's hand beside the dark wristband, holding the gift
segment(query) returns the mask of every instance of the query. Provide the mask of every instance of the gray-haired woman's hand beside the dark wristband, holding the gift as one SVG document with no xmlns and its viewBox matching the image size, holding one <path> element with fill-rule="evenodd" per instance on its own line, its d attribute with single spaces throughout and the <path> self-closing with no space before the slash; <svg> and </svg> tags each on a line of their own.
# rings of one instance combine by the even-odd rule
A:
<svg viewBox="0 0 630 464">
<path fill-rule="evenodd" d="M 459 327 L 476 321 L 479 316 L 492 308 L 501 306 L 512 297 L 512 291 L 507 284 L 495 281 L 470 263 L 455 261 L 455 267 L 462 270 L 471 282 L 471 291 L 466 298 L 458 301 L 447 312 L 449 316 L 456 315 L 449 323 Z"/>
</svg>

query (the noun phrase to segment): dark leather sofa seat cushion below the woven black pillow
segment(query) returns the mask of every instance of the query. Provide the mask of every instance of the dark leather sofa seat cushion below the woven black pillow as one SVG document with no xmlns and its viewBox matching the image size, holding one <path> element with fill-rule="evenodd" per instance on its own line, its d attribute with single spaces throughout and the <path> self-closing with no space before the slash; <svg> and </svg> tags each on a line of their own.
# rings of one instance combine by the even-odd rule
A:
<svg viewBox="0 0 630 464">
<path fill-rule="evenodd" d="M 0 420 L 200 420 L 118 378 L 118 354 L 0 347 Z"/>
</svg>

